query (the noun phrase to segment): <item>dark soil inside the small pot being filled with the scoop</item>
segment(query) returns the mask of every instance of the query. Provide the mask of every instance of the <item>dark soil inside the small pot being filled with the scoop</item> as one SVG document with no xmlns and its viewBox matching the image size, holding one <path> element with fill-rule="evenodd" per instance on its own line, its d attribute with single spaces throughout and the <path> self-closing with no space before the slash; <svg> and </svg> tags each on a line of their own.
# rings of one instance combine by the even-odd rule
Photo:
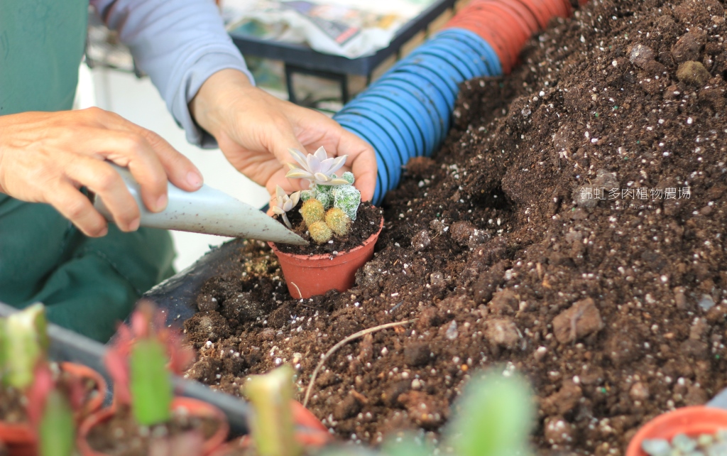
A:
<svg viewBox="0 0 727 456">
<path fill-rule="evenodd" d="M 310 239 L 303 217 L 300 215 L 300 203 L 288 212 L 288 220 L 293 225 L 293 231 L 309 242 L 307 246 L 276 244 L 278 250 L 296 255 L 326 255 L 332 252 L 345 252 L 346 250 L 364 244 L 371 234 L 376 233 L 381 225 L 382 210 L 371 205 L 371 201 L 364 201 L 358 205 L 356 220 L 351 223 L 351 231 L 347 236 L 341 237 L 334 234 L 333 239 L 325 244 L 316 244 Z M 275 216 L 278 222 L 283 223 L 282 217 Z"/>
</svg>

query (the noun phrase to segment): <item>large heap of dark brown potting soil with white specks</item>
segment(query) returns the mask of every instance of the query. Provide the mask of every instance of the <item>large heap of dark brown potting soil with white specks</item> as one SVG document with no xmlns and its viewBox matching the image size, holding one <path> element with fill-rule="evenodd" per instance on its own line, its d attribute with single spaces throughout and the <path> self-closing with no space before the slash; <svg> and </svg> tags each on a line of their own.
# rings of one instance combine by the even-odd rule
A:
<svg viewBox="0 0 727 456">
<path fill-rule="evenodd" d="M 479 367 L 531 380 L 542 455 L 623 455 L 651 417 L 703 404 L 727 384 L 726 33 L 716 0 L 592 1 L 554 21 L 512 75 L 462 85 L 355 288 L 294 300 L 248 244 L 260 316 L 188 321 L 188 376 L 236 394 L 290 363 L 302 399 L 332 345 L 415 318 L 326 362 L 309 407 L 342 439 L 437 431 Z"/>
</svg>

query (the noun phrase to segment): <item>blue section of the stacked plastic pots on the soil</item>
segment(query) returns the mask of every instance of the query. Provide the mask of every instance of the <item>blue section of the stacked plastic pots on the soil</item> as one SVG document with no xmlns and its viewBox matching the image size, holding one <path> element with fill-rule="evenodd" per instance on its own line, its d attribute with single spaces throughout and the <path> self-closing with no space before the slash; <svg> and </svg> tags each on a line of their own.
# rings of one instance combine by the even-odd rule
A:
<svg viewBox="0 0 727 456">
<path fill-rule="evenodd" d="M 376 151 L 374 204 L 398 185 L 409 159 L 431 155 L 441 145 L 459 84 L 500 74 L 499 58 L 486 41 L 451 28 L 411 52 L 334 116 Z"/>
</svg>

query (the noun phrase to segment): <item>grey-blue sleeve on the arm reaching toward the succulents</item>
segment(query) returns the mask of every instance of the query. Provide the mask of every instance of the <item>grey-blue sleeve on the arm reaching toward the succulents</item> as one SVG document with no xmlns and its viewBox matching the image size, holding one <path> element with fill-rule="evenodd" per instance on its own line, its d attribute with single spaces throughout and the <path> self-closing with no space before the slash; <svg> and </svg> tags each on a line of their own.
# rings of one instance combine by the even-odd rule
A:
<svg viewBox="0 0 727 456">
<path fill-rule="evenodd" d="M 209 76 L 225 68 L 253 81 L 211 0 L 91 0 L 109 28 L 132 50 L 190 143 L 215 147 L 188 103 Z M 254 83 L 254 82 L 253 82 Z"/>
</svg>

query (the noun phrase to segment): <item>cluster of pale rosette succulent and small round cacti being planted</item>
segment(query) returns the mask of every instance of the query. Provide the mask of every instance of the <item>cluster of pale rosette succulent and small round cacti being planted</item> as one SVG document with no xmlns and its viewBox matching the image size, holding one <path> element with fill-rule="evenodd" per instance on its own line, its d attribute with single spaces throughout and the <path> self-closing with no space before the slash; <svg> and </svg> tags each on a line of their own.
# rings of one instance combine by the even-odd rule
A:
<svg viewBox="0 0 727 456">
<path fill-rule="evenodd" d="M 297 164 L 289 164 L 291 170 L 286 177 L 308 180 L 308 190 L 301 191 L 300 196 L 296 193 L 286 196 L 278 187 L 278 207 L 274 207 L 273 212 L 280 214 L 290 227 L 284 215 L 284 212 L 290 209 L 280 205 L 294 199 L 297 203 L 297 199 L 300 198 L 300 201 L 303 201 L 300 212 L 313 241 L 324 244 L 332 239 L 334 234 L 347 236 L 361 204 L 361 192 L 353 187 L 355 181 L 353 173 L 344 172 L 341 177 L 335 174 L 345 164 L 348 156 L 329 159 L 322 147 L 318 148 L 316 153 L 309 153 L 308 156 L 294 149 L 290 150 L 290 154 Z M 295 207 L 295 204 L 292 204 L 292 207 Z"/>
</svg>

